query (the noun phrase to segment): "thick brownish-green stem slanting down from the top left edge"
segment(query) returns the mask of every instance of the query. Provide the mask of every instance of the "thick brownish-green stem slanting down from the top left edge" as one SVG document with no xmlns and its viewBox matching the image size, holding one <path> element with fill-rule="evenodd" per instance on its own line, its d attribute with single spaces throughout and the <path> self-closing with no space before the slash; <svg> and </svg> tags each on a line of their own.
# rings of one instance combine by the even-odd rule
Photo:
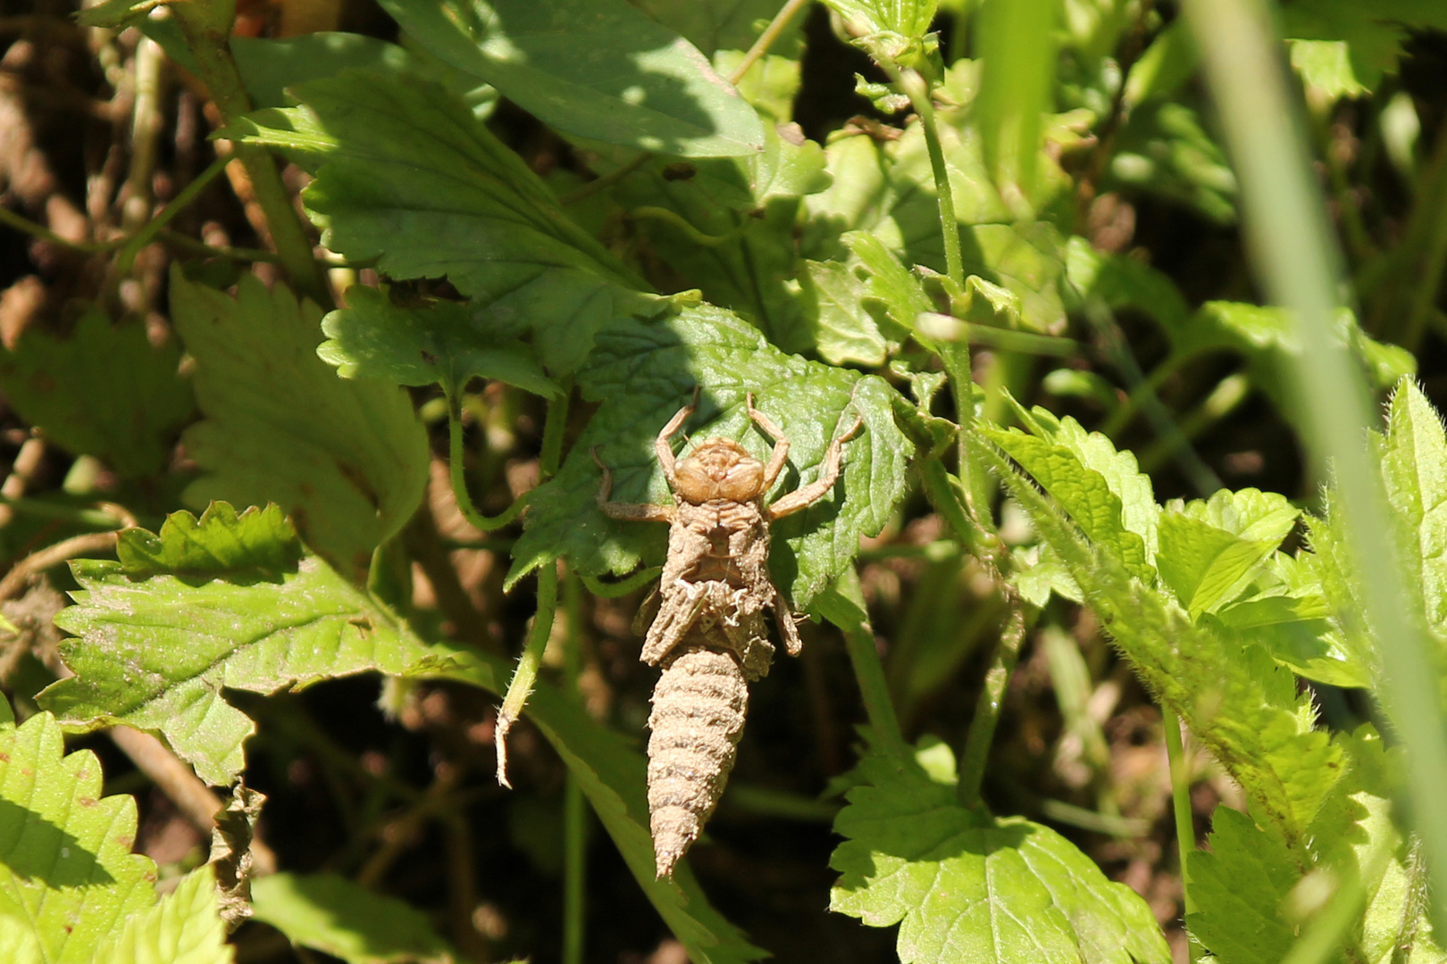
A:
<svg viewBox="0 0 1447 964">
<path fill-rule="evenodd" d="M 252 103 L 242 84 L 240 71 L 227 46 L 234 10 L 224 1 L 177 3 L 171 13 L 185 35 L 187 46 L 195 56 L 197 75 L 205 84 L 211 100 L 221 113 L 221 123 L 232 124 L 250 113 Z M 236 158 L 246 168 L 256 195 L 256 204 L 266 215 L 272 243 L 282 257 L 287 273 L 297 291 L 323 308 L 331 306 L 331 292 L 326 276 L 311 256 L 311 241 L 291 202 L 291 192 L 281 181 L 276 165 L 265 147 L 233 142 Z"/>
</svg>

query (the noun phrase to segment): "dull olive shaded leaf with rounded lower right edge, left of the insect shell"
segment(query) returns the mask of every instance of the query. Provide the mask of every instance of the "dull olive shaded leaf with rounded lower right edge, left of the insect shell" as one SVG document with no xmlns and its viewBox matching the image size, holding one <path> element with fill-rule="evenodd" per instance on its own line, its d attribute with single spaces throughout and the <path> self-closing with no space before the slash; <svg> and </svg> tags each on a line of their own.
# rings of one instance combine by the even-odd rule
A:
<svg viewBox="0 0 1447 964">
<path fill-rule="evenodd" d="M 205 421 L 185 447 L 205 473 L 184 500 L 279 503 L 349 575 L 402 528 L 427 484 L 427 434 L 392 384 L 344 382 L 317 357 L 321 312 L 243 276 L 236 299 L 171 273 L 171 317 L 195 360 Z"/>
</svg>

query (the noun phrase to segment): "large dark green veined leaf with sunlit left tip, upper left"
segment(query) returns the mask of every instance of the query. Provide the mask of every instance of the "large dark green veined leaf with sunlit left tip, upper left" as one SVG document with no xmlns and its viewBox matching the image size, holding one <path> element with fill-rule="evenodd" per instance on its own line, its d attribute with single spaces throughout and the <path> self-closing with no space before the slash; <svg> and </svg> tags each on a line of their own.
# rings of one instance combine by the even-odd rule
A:
<svg viewBox="0 0 1447 964">
<path fill-rule="evenodd" d="M 644 288 L 444 88 L 346 71 L 292 92 L 302 107 L 230 133 L 315 169 L 302 199 L 327 247 L 391 277 L 446 275 L 488 331 L 534 331 L 550 371 L 572 371 Z"/>
</svg>

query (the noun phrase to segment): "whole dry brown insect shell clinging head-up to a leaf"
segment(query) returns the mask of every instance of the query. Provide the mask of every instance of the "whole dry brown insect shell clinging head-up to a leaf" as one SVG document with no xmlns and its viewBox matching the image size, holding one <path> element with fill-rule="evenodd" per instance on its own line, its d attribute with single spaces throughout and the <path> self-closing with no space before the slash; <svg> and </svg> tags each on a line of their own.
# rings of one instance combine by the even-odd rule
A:
<svg viewBox="0 0 1447 964">
<path fill-rule="evenodd" d="M 862 425 L 855 419 L 829 442 L 816 481 L 765 504 L 789 461 L 784 431 L 755 409 L 748 395 L 748 416 L 774 439 L 767 465 L 726 438 L 706 439 L 674 460 L 671 439 L 696 405 L 697 392 L 654 441 L 673 490 L 671 506 L 609 502 L 612 473 L 598 464 L 603 471 L 598 506 L 605 513 L 670 526 L 658 614 L 641 653 L 644 662 L 663 666 L 648 717 L 648 811 L 660 877 L 673 873 L 697 838 L 734 767 L 748 682 L 768 672 L 774 655 L 765 608 L 774 611 L 789 655 L 800 649 L 789 604 L 768 578 L 768 523 L 809 507 L 833 489 L 844 444 Z"/>
</svg>

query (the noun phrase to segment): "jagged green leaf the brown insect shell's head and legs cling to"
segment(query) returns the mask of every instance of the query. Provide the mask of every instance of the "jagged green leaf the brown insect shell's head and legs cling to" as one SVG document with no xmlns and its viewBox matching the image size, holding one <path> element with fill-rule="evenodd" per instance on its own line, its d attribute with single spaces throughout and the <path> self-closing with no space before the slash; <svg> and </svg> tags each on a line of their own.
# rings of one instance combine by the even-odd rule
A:
<svg viewBox="0 0 1447 964">
<path fill-rule="evenodd" d="M 561 555 L 585 575 L 621 575 L 641 561 L 661 562 L 663 526 L 619 522 L 598 509 L 601 475 L 589 452 L 596 445 L 612 468 L 615 500 L 671 499 L 653 439 L 695 386 L 703 393 L 686 426 L 692 436 L 734 438 L 767 460 L 771 442 L 744 410 L 748 392 L 789 435 L 789 468 L 771 499 L 816 478 L 829 441 L 855 415 L 864 419 L 861 434 L 844 447 L 835 494 L 773 529 L 770 568 L 800 608 L 852 564 L 860 536 L 878 533 L 904 493 L 913 445 L 894 423 L 896 393 L 888 383 L 787 356 L 718 308 L 619 319 L 599 332 L 579 386 L 602 406 L 559 475 L 535 491 L 527 529 L 514 548 L 509 585 Z"/>
</svg>

